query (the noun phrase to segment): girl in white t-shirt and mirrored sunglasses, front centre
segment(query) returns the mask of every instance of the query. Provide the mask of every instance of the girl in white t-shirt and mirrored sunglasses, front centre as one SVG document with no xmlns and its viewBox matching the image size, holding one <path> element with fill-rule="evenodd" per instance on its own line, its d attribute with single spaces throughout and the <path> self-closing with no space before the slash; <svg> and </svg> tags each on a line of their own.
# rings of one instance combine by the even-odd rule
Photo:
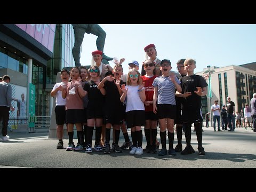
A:
<svg viewBox="0 0 256 192">
<path fill-rule="evenodd" d="M 126 86 L 122 85 L 121 102 L 126 101 L 126 120 L 127 127 L 131 128 L 132 142 L 137 143 L 132 147 L 130 154 L 142 155 L 142 130 L 141 126 L 145 126 L 145 107 L 146 100 L 145 87 L 142 83 L 140 73 L 137 69 L 133 68 L 129 71 Z"/>
</svg>

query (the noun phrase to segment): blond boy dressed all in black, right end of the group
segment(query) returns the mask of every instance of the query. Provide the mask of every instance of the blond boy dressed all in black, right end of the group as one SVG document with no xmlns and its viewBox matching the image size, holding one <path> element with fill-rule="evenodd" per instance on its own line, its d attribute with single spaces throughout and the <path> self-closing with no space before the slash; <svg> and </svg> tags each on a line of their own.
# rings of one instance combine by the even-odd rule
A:
<svg viewBox="0 0 256 192">
<path fill-rule="evenodd" d="M 203 117 L 201 100 L 202 96 L 206 95 L 206 86 L 208 84 L 202 76 L 194 74 L 194 69 L 196 68 L 195 60 L 186 59 L 184 62 L 184 66 L 188 75 L 180 79 L 182 92 L 176 92 L 176 95 L 178 97 L 185 98 L 182 103 L 181 121 L 183 122 L 183 126 L 185 129 L 187 147 L 183 151 L 181 151 L 180 154 L 187 155 L 195 153 L 195 150 L 191 146 L 191 124 L 194 123 L 199 155 L 205 155 L 205 151 L 202 146 Z"/>
</svg>

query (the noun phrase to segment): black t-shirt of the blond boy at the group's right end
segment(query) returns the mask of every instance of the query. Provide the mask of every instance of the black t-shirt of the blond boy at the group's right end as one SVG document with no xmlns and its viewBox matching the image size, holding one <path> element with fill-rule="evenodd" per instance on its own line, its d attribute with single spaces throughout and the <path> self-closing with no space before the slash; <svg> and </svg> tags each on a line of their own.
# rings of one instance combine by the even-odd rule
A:
<svg viewBox="0 0 256 192">
<path fill-rule="evenodd" d="M 196 87 L 202 87 L 203 89 L 203 87 L 208 86 L 204 77 L 194 74 L 190 76 L 181 77 L 180 82 L 180 86 L 182 88 L 181 93 L 191 92 L 191 95 L 183 100 L 182 108 L 201 107 L 202 97 L 194 93 L 194 91 L 197 91 Z"/>
</svg>

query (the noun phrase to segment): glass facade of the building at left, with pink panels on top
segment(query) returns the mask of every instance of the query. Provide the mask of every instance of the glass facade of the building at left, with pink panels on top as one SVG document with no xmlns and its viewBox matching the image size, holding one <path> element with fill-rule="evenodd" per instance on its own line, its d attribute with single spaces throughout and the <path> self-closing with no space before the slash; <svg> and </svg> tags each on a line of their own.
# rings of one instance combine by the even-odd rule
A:
<svg viewBox="0 0 256 192">
<path fill-rule="evenodd" d="M 52 24 L 50 24 L 50 27 L 48 25 L 50 32 L 52 28 L 55 27 L 51 27 L 51 25 Z M 17 26 L 22 29 L 22 26 L 18 24 Z M 32 25 L 28 24 L 28 26 Z M 34 62 L 32 66 L 32 84 L 36 86 L 36 116 L 50 116 L 50 93 L 56 82 L 57 73 L 61 71 L 63 67 L 75 66 L 72 55 L 74 45 L 74 30 L 72 25 L 57 24 L 54 38 L 53 47 L 48 43 L 45 44 L 47 49 L 53 49 L 53 59 L 47 61 L 47 67 L 43 65 L 38 66 Z M 6 50 L 5 47 L 0 47 L 0 69 L 3 68 L 12 69 L 27 75 L 28 60 Z M 12 83 L 15 84 L 15 82 Z"/>
</svg>

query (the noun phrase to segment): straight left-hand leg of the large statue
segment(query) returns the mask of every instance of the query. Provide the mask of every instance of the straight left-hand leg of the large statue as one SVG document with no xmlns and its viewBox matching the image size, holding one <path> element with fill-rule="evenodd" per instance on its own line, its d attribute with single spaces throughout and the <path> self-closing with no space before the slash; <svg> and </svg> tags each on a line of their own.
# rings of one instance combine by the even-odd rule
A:
<svg viewBox="0 0 256 192">
<path fill-rule="evenodd" d="M 81 51 L 81 45 L 83 43 L 85 34 L 85 29 L 81 27 L 74 27 L 74 35 L 75 35 L 75 43 L 74 47 L 72 49 L 73 58 L 75 60 L 76 66 L 80 66 L 80 51 Z"/>
</svg>

